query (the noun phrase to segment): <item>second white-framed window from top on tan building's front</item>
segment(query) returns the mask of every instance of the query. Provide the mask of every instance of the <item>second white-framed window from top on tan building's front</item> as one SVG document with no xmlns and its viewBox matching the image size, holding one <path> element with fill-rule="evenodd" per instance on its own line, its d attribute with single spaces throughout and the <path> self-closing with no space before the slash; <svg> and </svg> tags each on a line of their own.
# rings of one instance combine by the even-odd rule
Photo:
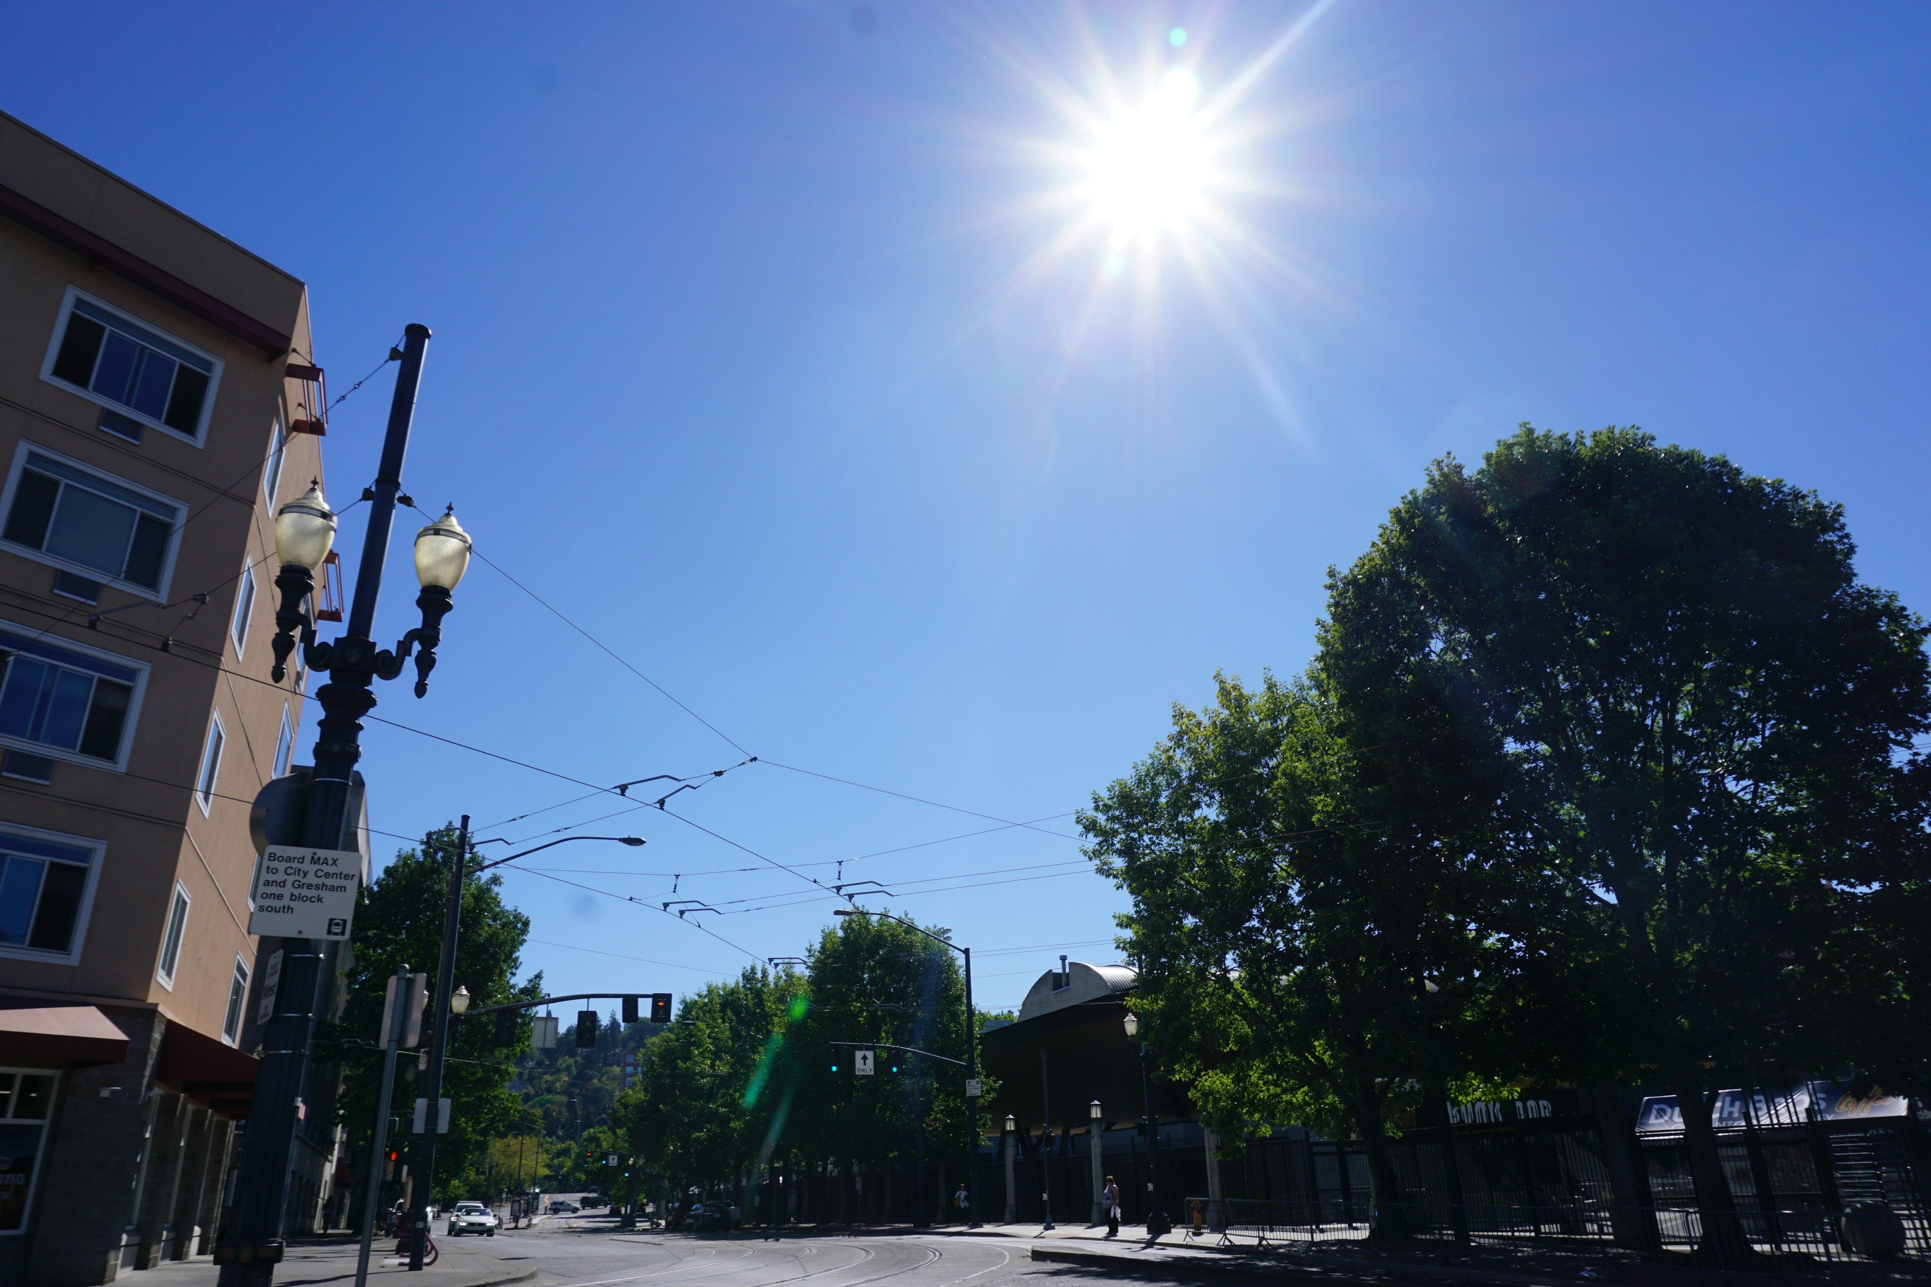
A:
<svg viewBox="0 0 1931 1287">
<path fill-rule="evenodd" d="M 42 563 L 158 598 L 182 511 L 180 502 L 21 442 L 0 540 Z"/>
</svg>

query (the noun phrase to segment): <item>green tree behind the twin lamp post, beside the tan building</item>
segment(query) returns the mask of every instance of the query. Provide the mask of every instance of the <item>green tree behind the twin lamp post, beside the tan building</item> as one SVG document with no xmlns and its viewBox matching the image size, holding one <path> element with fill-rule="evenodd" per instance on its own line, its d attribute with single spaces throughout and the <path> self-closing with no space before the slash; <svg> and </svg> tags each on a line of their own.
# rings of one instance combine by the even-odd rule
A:
<svg viewBox="0 0 1931 1287">
<path fill-rule="evenodd" d="M 322 1057 L 344 1065 L 340 1100 L 351 1136 L 361 1138 L 355 1175 L 365 1175 L 369 1131 L 380 1090 L 382 1054 L 377 1038 L 382 1027 L 382 998 L 388 978 L 407 965 L 429 974 L 436 992 L 436 959 L 442 945 L 442 918 L 448 905 L 450 868 L 456 855 L 456 828 L 431 834 L 427 847 L 404 849 L 361 893 L 355 911 L 353 965 L 348 971 L 348 1005 L 338 1025 L 319 1032 Z M 456 945 L 456 984 L 469 990 L 473 1007 L 502 1005 L 543 996 L 541 974 L 516 984 L 519 953 L 529 938 L 529 917 L 502 901 L 496 876 L 467 876 L 463 882 L 462 938 Z M 438 1200 L 473 1196 L 477 1164 L 490 1140 L 504 1135 L 521 1109 L 508 1090 L 512 1057 L 529 1042 L 529 1021 L 521 1019 L 516 1040 L 498 1046 L 496 1025 L 489 1019 L 460 1023 L 452 1034 L 442 1071 L 442 1092 L 450 1098 L 450 1131 L 436 1144 L 434 1194 Z M 423 1050 L 429 1046 L 429 1015 L 423 1017 Z M 419 1081 L 406 1079 L 415 1059 L 406 1052 L 398 1061 L 392 1109 L 407 1125 Z M 407 1142 L 407 1136 L 404 1136 Z"/>
</svg>

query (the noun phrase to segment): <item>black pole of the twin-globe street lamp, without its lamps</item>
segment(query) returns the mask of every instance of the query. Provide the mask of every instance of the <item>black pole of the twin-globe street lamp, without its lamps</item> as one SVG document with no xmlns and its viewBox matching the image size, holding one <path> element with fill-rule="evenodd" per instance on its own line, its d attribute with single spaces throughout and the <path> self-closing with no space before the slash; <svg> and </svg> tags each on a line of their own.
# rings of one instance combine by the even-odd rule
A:
<svg viewBox="0 0 1931 1287">
<path fill-rule="evenodd" d="M 423 378 L 427 347 L 429 328 L 409 322 L 404 332 L 402 369 L 396 372 L 396 396 L 388 407 L 388 432 L 382 438 L 382 463 L 369 506 L 369 529 L 363 536 L 361 567 L 355 573 L 355 604 L 348 633 L 330 646 L 330 664 L 317 666 L 326 670 L 328 683 L 315 693 L 322 718 L 317 722 L 315 776 L 301 837 L 315 849 L 342 847 L 355 762 L 361 758 L 361 718 L 375 706 L 371 691 L 377 675 L 377 646 L 371 637 L 375 604 L 382 592 L 382 558 L 396 519 L 402 461 L 409 450 L 415 390 Z M 216 1246 L 220 1287 L 268 1287 L 274 1281 L 274 1266 L 282 1260 L 290 1158 L 303 1113 L 301 1092 L 309 1077 L 315 1007 L 322 996 L 322 953 L 317 949 L 317 940 L 261 940 L 263 955 L 276 951 L 284 953 L 282 978 L 274 1013 L 263 1027 L 263 1057 L 255 1075 L 247 1142 L 241 1146 L 239 1198 L 232 1227 Z"/>
</svg>

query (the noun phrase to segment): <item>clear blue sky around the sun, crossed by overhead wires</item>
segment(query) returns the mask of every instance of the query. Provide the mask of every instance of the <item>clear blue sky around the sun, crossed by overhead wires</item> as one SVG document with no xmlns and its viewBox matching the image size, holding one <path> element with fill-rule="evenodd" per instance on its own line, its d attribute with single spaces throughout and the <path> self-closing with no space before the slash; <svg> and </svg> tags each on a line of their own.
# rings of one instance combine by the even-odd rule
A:
<svg viewBox="0 0 1931 1287">
<path fill-rule="evenodd" d="M 1049 818 L 844 866 L 1010 882 L 890 905 L 989 953 L 979 999 L 1012 1005 L 1058 951 L 1112 959 L 1122 899 L 1054 866 L 1058 814 L 1217 668 L 1301 666 L 1327 567 L 1442 452 L 1636 423 L 1842 500 L 1863 575 L 1931 608 L 1931 10 L 1340 0 L 1290 33 L 1307 15 L 73 2 L 8 19 L 0 106 L 307 280 L 334 390 L 434 328 L 409 490 L 730 739 L 971 810 L 761 764 L 678 797 L 691 822 L 828 882 Z M 1120 249 L 1077 191 L 1091 122 L 1172 68 L 1217 112 L 1213 176 Z M 338 411 L 342 502 L 386 399 L 384 374 Z M 743 758 L 485 565 L 429 698 L 377 714 L 591 783 Z M 365 745 L 388 832 L 610 812 L 502 824 L 583 789 Z M 616 872 L 811 893 L 657 810 L 606 828 L 651 843 L 543 864 L 651 907 L 670 878 Z M 508 891 L 556 990 L 747 961 Z M 765 957 L 830 907 L 703 918 Z"/>
</svg>

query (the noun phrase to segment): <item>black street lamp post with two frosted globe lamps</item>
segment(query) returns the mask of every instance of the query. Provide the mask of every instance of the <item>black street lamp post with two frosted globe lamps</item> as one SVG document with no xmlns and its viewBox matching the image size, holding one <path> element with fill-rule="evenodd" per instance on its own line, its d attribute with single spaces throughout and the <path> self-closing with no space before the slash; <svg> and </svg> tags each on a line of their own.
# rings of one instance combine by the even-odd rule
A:
<svg viewBox="0 0 1931 1287">
<path fill-rule="evenodd" d="M 315 619 L 305 608 L 315 592 L 315 573 L 328 558 L 336 536 L 336 515 L 322 500 L 321 486 L 311 486 L 299 500 L 282 506 L 274 517 L 274 544 L 282 560 L 274 583 L 282 590 L 282 604 L 274 614 L 270 673 L 276 683 L 286 677 L 288 654 L 295 650 L 299 635 L 309 668 L 328 675 L 328 683 L 315 693 L 322 718 L 317 722 L 315 770 L 301 835 L 303 843 L 315 849 L 342 849 L 355 762 L 361 758 L 361 718 L 375 706 L 375 679 L 400 675 L 409 652 L 421 644 L 415 658 L 415 695 L 427 691 L 429 671 L 436 664 L 434 650 L 442 641 L 442 617 L 452 608 L 450 592 L 469 561 L 469 536 L 454 513 L 417 533 L 415 573 L 423 589 L 415 602 L 423 610 L 423 625 L 409 631 L 394 652 L 375 646 L 382 560 L 402 490 L 402 461 L 409 448 L 409 424 L 415 419 L 415 392 L 423 378 L 427 347 L 429 328 L 411 322 L 404 332 L 402 369 L 388 407 L 382 461 L 369 490 L 373 504 L 361 567 L 355 573 L 355 600 L 340 639 L 317 643 Z M 247 1144 L 241 1150 L 236 1214 L 214 1252 L 220 1264 L 220 1287 L 266 1287 L 282 1258 L 290 1156 L 295 1148 L 295 1125 L 301 1119 L 309 1040 L 322 982 L 324 957 L 317 947 L 317 940 L 299 938 L 261 942 L 265 955 L 282 951 L 284 965 L 274 1009 L 263 1025 L 263 1057 L 255 1077 Z"/>
</svg>

